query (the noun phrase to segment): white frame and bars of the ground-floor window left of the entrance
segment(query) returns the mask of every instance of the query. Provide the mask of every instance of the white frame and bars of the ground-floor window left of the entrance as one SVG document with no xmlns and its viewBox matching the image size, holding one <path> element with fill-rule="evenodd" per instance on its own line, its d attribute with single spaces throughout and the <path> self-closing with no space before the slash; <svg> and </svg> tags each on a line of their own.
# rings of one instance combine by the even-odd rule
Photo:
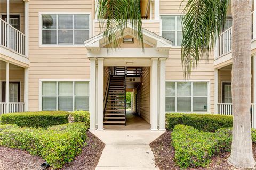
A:
<svg viewBox="0 0 256 170">
<path fill-rule="evenodd" d="M 39 79 L 39 111 L 42 111 L 43 110 L 43 106 L 42 106 L 42 98 L 43 97 L 49 97 L 49 96 L 43 96 L 42 95 L 42 92 L 43 92 L 43 89 L 42 89 L 42 84 L 43 82 L 56 82 L 56 95 L 52 96 L 52 97 L 56 97 L 56 111 L 59 110 L 59 82 L 73 82 L 73 95 L 72 95 L 72 102 L 73 102 L 73 108 L 72 108 L 72 111 L 75 111 L 75 97 L 79 97 L 79 95 L 75 95 L 75 82 L 89 82 L 89 88 L 90 88 L 90 79 Z M 66 96 L 65 96 L 66 97 Z M 89 97 L 90 98 L 90 93 L 88 96 L 86 97 Z M 89 108 L 88 108 L 88 111 L 90 110 L 90 101 L 89 101 Z"/>
</svg>

